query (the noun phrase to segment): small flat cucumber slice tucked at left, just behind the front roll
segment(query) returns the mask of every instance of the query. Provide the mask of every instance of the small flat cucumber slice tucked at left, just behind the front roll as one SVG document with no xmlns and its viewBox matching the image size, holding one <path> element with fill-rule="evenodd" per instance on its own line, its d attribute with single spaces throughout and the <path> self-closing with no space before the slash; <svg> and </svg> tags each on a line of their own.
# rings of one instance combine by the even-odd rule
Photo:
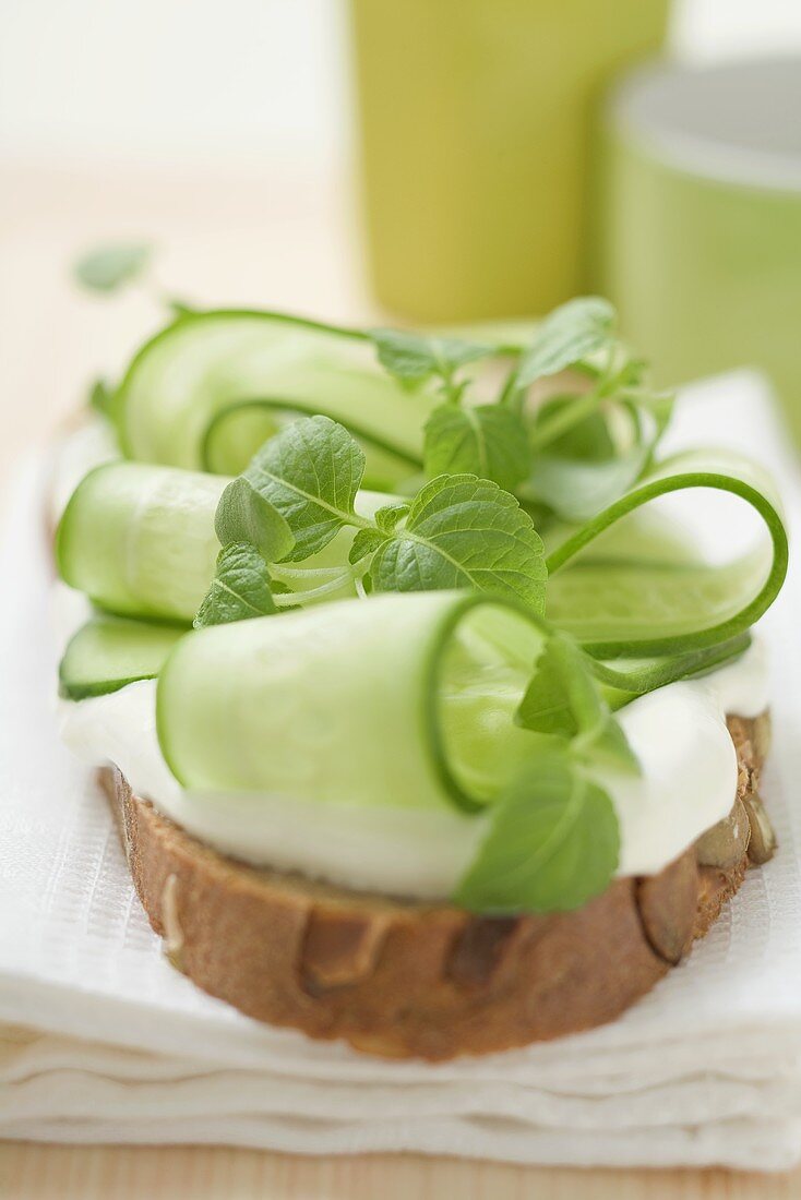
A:
<svg viewBox="0 0 801 1200">
<path fill-rule="evenodd" d="M 60 692 L 85 700 L 155 679 L 183 630 L 118 617 L 95 617 L 74 634 L 59 667 Z"/>
</svg>

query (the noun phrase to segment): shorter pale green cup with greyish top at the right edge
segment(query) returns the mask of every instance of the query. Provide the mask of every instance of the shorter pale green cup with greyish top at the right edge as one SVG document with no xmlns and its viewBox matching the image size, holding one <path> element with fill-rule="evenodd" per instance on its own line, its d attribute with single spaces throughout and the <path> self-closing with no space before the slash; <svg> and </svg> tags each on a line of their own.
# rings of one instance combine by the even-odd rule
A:
<svg viewBox="0 0 801 1200">
<path fill-rule="evenodd" d="M 596 287 L 664 383 L 771 377 L 801 440 L 801 59 L 653 66 L 611 95 Z"/>
</svg>

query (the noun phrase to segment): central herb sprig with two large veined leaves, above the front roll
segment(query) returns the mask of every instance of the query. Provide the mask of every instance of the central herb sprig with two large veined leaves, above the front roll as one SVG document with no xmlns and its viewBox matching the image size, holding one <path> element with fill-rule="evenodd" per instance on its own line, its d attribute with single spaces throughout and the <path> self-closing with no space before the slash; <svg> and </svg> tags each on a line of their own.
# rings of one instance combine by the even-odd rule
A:
<svg viewBox="0 0 801 1200">
<path fill-rule="evenodd" d="M 257 517 L 271 505 L 294 544 L 271 560 L 301 563 L 345 526 L 357 529 L 349 562 L 373 592 L 472 588 L 514 595 L 540 612 L 545 569 L 542 539 L 518 500 L 491 480 L 442 475 L 411 504 L 390 504 L 375 518 L 355 512 L 364 452 L 327 416 L 295 421 L 256 455 L 220 499 L 216 524 L 229 540 L 252 541 Z M 369 560 L 369 562 L 367 562 Z"/>
</svg>

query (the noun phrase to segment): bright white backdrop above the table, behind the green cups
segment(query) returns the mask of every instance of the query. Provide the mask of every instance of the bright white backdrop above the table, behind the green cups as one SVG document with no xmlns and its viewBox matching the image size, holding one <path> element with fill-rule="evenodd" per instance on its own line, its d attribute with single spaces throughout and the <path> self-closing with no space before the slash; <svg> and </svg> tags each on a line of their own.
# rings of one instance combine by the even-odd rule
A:
<svg viewBox="0 0 801 1200">
<path fill-rule="evenodd" d="M 347 41 L 345 0 L 0 0 L 0 157 L 336 163 Z M 673 44 L 801 53 L 801 0 L 679 0 Z"/>
</svg>

